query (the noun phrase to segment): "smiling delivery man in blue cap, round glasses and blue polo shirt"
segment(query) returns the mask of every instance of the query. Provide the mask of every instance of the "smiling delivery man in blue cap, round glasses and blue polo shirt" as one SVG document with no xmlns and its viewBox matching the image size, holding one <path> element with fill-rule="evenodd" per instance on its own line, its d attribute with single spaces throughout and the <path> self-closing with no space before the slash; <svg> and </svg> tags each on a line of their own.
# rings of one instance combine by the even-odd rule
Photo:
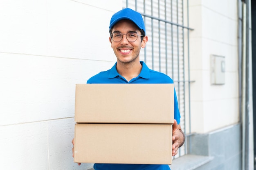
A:
<svg viewBox="0 0 256 170">
<path fill-rule="evenodd" d="M 139 61 L 141 48 L 148 41 L 140 13 L 126 8 L 115 13 L 110 20 L 109 41 L 117 57 L 115 65 L 91 77 L 87 83 L 173 83 L 166 74 L 150 70 Z M 173 156 L 183 145 L 185 136 L 179 125 L 180 111 L 174 93 Z M 74 139 L 72 140 L 74 145 Z M 72 149 L 74 152 L 74 148 Z M 73 155 L 74 156 L 74 155 Z M 80 165 L 80 163 L 79 163 Z M 95 163 L 95 170 L 170 170 L 168 165 L 106 164 Z"/>
</svg>

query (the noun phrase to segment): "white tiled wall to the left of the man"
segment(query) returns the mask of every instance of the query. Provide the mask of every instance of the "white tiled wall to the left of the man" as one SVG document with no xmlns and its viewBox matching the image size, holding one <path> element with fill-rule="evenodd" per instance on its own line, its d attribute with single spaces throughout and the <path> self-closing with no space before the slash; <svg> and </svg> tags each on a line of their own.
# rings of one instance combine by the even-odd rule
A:
<svg viewBox="0 0 256 170">
<path fill-rule="evenodd" d="M 108 25 L 121 0 L 0 1 L 0 169 L 73 163 L 75 84 L 116 61 Z"/>
</svg>

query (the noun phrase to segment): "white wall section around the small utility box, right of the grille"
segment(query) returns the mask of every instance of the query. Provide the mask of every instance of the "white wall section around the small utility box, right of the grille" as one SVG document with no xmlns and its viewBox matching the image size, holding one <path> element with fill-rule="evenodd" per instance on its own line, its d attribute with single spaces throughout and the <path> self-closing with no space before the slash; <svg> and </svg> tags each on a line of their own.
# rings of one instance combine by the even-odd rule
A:
<svg viewBox="0 0 256 170">
<path fill-rule="evenodd" d="M 206 133 L 239 120 L 236 0 L 189 0 L 191 131 Z M 210 56 L 225 57 L 225 85 L 211 85 Z"/>
</svg>

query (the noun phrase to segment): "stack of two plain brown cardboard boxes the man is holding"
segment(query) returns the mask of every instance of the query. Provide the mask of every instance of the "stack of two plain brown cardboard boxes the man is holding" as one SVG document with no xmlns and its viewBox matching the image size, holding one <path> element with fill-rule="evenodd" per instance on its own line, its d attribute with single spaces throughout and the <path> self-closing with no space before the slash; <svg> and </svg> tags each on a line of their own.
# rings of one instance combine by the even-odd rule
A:
<svg viewBox="0 0 256 170">
<path fill-rule="evenodd" d="M 173 84 L 76 85 L 74 162 L 171 164 Z"/>
</svg>

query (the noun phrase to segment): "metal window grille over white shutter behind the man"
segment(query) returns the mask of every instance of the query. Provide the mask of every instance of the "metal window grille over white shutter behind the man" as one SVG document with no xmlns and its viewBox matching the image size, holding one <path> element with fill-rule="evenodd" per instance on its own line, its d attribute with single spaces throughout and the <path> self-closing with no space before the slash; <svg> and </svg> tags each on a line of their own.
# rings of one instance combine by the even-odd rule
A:
<svg viewBox="0 0 256 170">
<path fill-rule="evenodd" d="M 185 2 L 188 6 L 188 0 Z M 179 109 L 180 125 L 186 135 L 190 134 L 190 78 L 189 78 L 189 30 L 188 7 L 183 0 L 123 0 L 144 17 L 148 43 L 141 49 L 140 59 L 149 68 L 173 78 Z M 184 19 L 186 17 L 186 19 Z M 180 157 L 189 153 L 188 139 L 179 149 Z"/>
</svg>

